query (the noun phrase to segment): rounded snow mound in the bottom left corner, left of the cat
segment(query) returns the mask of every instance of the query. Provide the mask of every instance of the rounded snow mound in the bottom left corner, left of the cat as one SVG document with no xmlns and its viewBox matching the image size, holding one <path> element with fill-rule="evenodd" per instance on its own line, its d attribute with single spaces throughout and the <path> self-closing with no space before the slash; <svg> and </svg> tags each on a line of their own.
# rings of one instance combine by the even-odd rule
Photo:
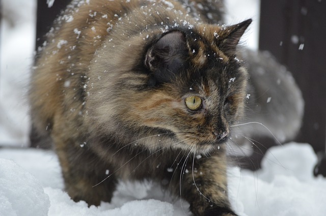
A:
<svg viewBox="0 0 326 216">
<path fill-rule="evenodd" d="M 33 175 L 12 160 L 2 158 L 0 171 L 0 215 L 47 215 L 49 197 Z"/>
</svg>

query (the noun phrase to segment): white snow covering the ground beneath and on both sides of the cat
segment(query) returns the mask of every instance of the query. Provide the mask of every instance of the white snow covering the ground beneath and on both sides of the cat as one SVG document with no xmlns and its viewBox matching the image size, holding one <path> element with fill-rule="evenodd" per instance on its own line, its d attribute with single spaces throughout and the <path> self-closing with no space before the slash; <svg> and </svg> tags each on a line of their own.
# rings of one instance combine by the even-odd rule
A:
<svg viewBox="0 0 326 216">
<path fill-rule="evenodd" d="M 188 204 L 152 182 L 120 182 L 111 203 L 75 203 L 63 191 L 58 158 L 40 149 L 0 149 L 0 215 L 189 215 Z M 12 159 L 12 160 L 11 160 Z M 323 216 L 326 180 L 313 176 L 309 144 L 271 148 L 258 172 L 229 168 L 229 193 L 240 216 Z"/>
</svg>

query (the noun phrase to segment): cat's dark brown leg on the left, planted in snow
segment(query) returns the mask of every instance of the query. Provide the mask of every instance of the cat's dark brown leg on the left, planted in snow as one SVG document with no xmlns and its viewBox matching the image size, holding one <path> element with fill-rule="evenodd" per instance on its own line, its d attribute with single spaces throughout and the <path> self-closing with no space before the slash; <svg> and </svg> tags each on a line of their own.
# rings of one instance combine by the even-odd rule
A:
<svg viewBox="0 0 326 216">
<path fill-rule="evenodd" d="M 65 191 L 75 202 L 84 200 L 89 206 L 111 202 L 117 180 L 110 165 L 105 164 L 87 145 L 76 147 L 69 142 L 57 143 Z"/>
</svg>

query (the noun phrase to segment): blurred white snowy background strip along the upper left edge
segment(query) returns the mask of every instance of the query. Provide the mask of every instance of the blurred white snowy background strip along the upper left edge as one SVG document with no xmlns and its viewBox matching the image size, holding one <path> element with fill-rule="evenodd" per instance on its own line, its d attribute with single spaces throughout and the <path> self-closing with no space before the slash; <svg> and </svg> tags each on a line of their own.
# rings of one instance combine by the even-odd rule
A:
<svg viewBox="0 0 326 216">
<path fill-rule="evenodd" d="M 1 1 L 0 145 L 28 145 L 25 100 L 35 41 L 35 1 Z"/>
</svg>

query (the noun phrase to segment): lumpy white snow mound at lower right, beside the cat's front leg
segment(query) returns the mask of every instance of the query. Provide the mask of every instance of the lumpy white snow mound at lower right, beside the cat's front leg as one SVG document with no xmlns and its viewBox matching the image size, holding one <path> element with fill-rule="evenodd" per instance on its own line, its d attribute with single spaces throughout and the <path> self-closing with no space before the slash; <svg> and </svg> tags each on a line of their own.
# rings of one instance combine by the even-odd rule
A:
<svg viewBox="0 0 326 216">
<path fill-rule="evenodd" d="M 231 202 L 240 216 L 323 216 L 326 180 L 313 176 L 317 156 L 308 144 L 272 147 L 258 172 L 230 170 Z"/>
</svg>

